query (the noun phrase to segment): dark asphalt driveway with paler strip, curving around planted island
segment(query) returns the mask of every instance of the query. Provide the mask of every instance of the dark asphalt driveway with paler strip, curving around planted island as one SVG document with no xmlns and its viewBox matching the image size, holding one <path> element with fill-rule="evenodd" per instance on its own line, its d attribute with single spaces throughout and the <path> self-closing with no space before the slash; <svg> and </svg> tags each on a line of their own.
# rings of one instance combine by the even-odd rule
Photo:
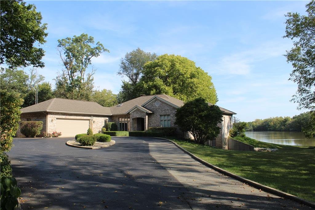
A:
<svg viewBox="0 0 315 210">
<path fill-rule="evenodd" d="M 23 209 L 309 209 L 203 166 L 172 143 L 113 137 L 79 149 L 72 138 L 15 138 L 9 152 Z"/>
</svg>

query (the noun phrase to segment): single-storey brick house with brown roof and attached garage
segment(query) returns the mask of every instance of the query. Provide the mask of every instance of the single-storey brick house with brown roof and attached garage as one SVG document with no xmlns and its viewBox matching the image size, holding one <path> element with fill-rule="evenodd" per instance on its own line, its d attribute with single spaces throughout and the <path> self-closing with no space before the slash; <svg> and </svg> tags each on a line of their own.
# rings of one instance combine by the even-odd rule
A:
<svg viewBox="0 0 315 210">
<path fill-rule="evenodd" d="M 96 102 L 53 98 L 22 108 L 21 121 L 41 120 L 42 132 L 58 131 L 62 137 L 85 133 L 88 128 L 97 133 L 107 122 L 115 122 L 120 131 L 146 131 L 148 127 L 175 126 L 176 109 L 182 105 L 183 101 L 165 94 L 142 95 L 112 107 L 103 107 Z M 219 125 L 222 129 L 215 145 L 223 148 L 232 126 L 232 115 L 236 113 L 220 109 L 223 112 L 223 121 Z M 16 135 L 24 137 L 20 129 Z"/>
</svg>

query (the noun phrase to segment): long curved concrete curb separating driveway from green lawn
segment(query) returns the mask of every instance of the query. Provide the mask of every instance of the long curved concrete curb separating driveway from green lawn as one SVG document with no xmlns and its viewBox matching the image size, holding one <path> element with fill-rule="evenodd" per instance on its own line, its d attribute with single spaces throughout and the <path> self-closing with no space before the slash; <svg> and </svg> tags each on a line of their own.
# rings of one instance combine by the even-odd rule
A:
<svg viewBox="0 0 315 210">
<path fill-rule="evenodd" d="M 169 142 L 172 142 L 176 147 L 178 147 L 179 149 L 181 149 L 181 150 L 184 151 L 186 154 L 190 155 L 193 159 L 197 160 L 198 162 L 202 163 L 203 165 L 208 166 L 208 167 L 214 169 L 215 171 L 218 171 L 218 172 L 220 172 L 220 173 L 223 173 L 223 174 L 225 174 L 225 175 L 227 175 L 227 176 L 233 177 L 233 178 L 235 178 L 235 179 L 237 179 L 237 180 L 239 180 L 239 181 L 241 181 L 241 182 L 244 182 L 244 183 L 246 183 L 246 184 L 249 184 L 249 185 L 252 186 L 252 187 L 255 187 L 255 188 L 259 189 L 259 190 L 264 190 L 264 191 L 270 192 L 270 193 L 272 193 L 272 194 L 274 194 L 274 195 L 278 195 L 278 196 L 280 196 L 280 197 L 288 198 L 288 199 L 290 199 L 290 200 L 297 201 L 297 202 L 302 203 L 302 204 L 304 204 L 304 205 L 307 205 L 307 206 L 309 206 L 309 207 L 315 208 L 315 203 L 313 203 L 313 202 L 311 202 L 311 201 L 306 201 L 306 200 L 304 200 L 304 199 L 302 199 L 302 198 L 299 198 L 299 197 L 297 197 L 297 196 L 295 196 L 295 195 L 291 195 L 291 194 L 289 194 L 289 193 L 285 193 L 285 192 L 283 192 L 283 191 L 274 189 L 274 188 L 272 188 L 272 187 L 268 187 L 268 186 L 266 186 L 266 185 L 263 185 L 263 184 L 254 182 L 254 181 L 252 181 L 252 180 L 249 180 L 249 179 L 246 179 L 246 178 L 243 178 L 243 177 L 240 177 L 240 176 L 238 176 L 238 175 L 236 175 L 236 174 L 233 174 L 233 173 L 228 172 L 228 171 L 226 171 L 226 170 L 224 170 L 224 169 L 222 169 L 222 168 L 219 168 L 219 167 L 217 167 L 217 166 L 215 166 L 215 165 L 212 165 L 212 164 L 210 164 L 210 163 L 208 163 L 208 162 L 206 162 L 206 161 L 204 161 L 204 160 L 198 158 L 196 155 L 194 155 L 194 154 L 188 152 L 186 149 L 180 147 L 177 143 L 173 142 L 172 140 L 169 140 L 169 139 L 166 139 L 166 138 L 161 138 L 161 137 L 152 137 L 152 138 L 159 138 L 159 139 L 164 139 L 164 140 L 167 140 L 167 141 L 169 141 Z"/>
</svg>

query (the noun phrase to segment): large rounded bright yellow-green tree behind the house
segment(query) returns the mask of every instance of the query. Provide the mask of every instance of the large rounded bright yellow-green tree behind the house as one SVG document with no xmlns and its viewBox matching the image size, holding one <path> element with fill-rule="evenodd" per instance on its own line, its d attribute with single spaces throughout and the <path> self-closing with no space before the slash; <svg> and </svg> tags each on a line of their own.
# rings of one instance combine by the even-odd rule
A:
<svg viewBox="0 0 315 210">
<path fill-rule="evenodd" d="M 186 57 L 160 55 L 145 64 L 142 74 L 140 94 L 167 94 L 185 102 L 198 97 L 212 104 L 218 101 L 211 76 Z"/>
</svg>

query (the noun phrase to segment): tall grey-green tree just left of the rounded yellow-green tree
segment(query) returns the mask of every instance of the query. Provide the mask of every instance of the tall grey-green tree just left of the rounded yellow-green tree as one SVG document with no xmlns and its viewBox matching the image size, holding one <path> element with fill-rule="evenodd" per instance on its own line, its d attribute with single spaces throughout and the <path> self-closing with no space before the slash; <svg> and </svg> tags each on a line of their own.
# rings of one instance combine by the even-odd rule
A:
<svg viewBox="0 0 315 210">
<path fill-rule="evenodd" d="M 127 81 L 123 80 L 123 85 L 118 93 L 120 103 L 139 96 L 136 85 L 142 76 L 144 64 L 148 61 L 154 61 L 156 58 L 157 54 L 145 52 L 138 47 L 136 50 L 126 53 L 125 57 L 120 60 L 117 74 L 128 78 Z"/>
</svg>

